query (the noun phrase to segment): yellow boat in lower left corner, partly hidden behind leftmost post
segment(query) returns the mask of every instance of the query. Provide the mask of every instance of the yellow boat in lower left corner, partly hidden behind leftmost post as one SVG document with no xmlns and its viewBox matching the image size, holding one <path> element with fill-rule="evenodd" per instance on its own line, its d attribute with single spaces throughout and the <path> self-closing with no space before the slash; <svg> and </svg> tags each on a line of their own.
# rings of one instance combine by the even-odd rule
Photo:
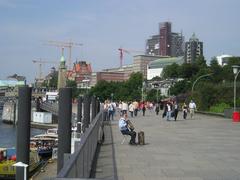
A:
<svg viewBox="0 0 240 180">
<path fill-rule="evenodd" d="M 0 179 L 15 179 L 16 167 L 16 149 L 15 148 L 0 148 Z M 40 165 L 37 151 L 31 150 L 29 157 L 29 172 L 34 172 Z"/>
</svg>

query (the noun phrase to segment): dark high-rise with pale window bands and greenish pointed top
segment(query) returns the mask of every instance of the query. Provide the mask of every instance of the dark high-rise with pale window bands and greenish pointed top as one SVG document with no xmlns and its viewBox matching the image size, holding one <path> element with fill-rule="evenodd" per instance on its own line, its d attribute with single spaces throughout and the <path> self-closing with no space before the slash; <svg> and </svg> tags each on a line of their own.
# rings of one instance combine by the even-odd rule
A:
<svg viewBox="0 0 240 180">
<path fill-rule="evenodd" d="M 195 33 L 185 43 L 185 62 L 194 63 L 199 56 L 203 56 L 203 42 L 199 41 Z"/>
</svg>

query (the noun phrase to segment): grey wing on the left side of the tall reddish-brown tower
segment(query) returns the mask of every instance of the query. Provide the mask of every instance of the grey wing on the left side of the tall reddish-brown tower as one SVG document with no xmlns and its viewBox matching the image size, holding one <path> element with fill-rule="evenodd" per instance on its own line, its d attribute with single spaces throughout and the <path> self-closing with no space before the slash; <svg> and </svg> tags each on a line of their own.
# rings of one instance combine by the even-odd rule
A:
<svg viewBox="0 0 240 180">
<path fill-rule="evenodd" d="M 160 55 L 160 35 L 153 35 L 146 41 L 146 55 Z"/>
</svg>

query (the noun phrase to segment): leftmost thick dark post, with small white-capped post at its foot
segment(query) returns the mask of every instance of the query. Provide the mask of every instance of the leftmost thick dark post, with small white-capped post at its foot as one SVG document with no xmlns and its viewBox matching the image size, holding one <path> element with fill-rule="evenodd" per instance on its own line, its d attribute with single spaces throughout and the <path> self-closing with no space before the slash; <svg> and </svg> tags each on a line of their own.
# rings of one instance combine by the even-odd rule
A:
<svg viewBox="0 0 240 180">
<path fill-rule="evenodd" d="M 29 165 L 30 146 L 30 121 L 31 121 L 31 96 L 32 88 L 28 86 L 18 89 L 18 122 L 17 122 L 17 162 Z M 26 177 L 29 172 L 27 168 Z M 16 179 L 24 179 L 24 169 L 16 167 Z"/>
</svg>

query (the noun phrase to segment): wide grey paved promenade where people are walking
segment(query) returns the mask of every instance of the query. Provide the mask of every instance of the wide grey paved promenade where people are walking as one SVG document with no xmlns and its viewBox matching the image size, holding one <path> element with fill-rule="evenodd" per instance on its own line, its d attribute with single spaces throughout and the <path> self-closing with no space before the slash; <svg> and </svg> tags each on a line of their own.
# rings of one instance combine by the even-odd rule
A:
<svg viewBox="0 0 240 180">
<path fill-rule="evenodd" d="M 121 144 L 118 117 L 106 126 L 96 178 L 118 180 L 240 180 L 240 123 L 196 114 L 167 122 L 154 112 L 129 118 L 146 145 Z"/>
</svg>

